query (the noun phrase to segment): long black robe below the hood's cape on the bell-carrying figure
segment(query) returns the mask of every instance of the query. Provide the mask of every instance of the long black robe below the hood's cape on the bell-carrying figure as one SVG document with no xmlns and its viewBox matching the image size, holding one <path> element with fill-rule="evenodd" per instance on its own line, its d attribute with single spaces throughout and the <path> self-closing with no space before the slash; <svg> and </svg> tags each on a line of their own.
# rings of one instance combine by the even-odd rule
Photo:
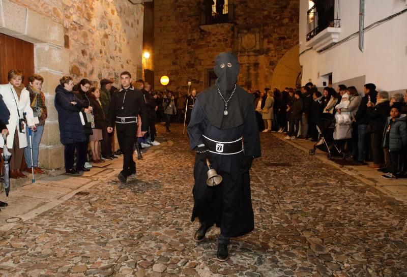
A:
<svg viewBox="0 0 407 277">
<path fill-rule="evenodd" d="M 250 95 L 249 95 L 250 96 Z M 239 98 L 239 96 L 237 96 Z M 242 96 L 246 99 L 246 95 Z M 202 135 L 216 141 L 234 141 L 243 137 L 244 152 L 234 155 L 212 154 L 212 168 L 223 177 L 223 181 L 215 187 L 206 184 L 208 167 L 198 157 L 195 159 L 193 187 L 194 207 L 192 221 L 199 218 L 200 222 L 216 224 L 221 228 L 222 235 L 238 237 L 251 232 L 254 228 L 253 209 L 250 194 L 249 173 L 242 174 L 239 166 L 244 156 L 260 157 L 260 138 L 254 113 L 253 101 L 247 103 L 247 113 L 243 124 L 232 128 L 215 127 L 208 120 L 198 98 L 192 109 L 188 125 L 190 147 L 194 149 L 203 143 Z M 242 103 L 241 101 L 239 101 Z M 236 105 L 235 107 L 237 107 Z M 220 110 L 223 113 L 223 109 Z M 227 116 L 230 116 L 227 115 Z M 236 121 L 235 121 L 236 122 Z"/>
</svg>

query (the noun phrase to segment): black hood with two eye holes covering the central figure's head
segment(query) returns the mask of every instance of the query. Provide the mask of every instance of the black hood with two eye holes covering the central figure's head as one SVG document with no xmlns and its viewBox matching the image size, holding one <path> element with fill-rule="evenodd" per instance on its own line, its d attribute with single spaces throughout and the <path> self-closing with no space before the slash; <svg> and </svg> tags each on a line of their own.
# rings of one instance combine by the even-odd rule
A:
<svg viewBox="0 0 407 277">
<path fill-rule="evenodd" d="M 238 58 L 232 53 L 220 53 L 215 58 L 214 71 L 218 79 L 216 85 L 222 93 L 234 89 L 238 81 L 240 65 Z"/>
</svg>

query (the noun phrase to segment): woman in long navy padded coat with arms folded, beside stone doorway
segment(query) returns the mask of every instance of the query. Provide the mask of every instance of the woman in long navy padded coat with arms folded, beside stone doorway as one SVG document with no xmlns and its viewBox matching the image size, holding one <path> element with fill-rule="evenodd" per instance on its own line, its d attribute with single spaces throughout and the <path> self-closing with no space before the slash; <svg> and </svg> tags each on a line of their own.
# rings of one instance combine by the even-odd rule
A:
<svg viewBox="0 0 407 277">
<path fill-rule="evenodd" d="M 85 132 L 79 112 L 82 110 L 83 103 L 74 93 L 72 77 L 64 76 L 60 79 L 60 85 L 55 88 L 55 108 L 58 112 L 58 122 L 60 126 L 61 143 L 65 146 L 65 172 L 67 174 L 77 175 L 73 167 L 75 149 L 77 151 L 77 160 L 80 152 L 80 144 L 86 141 Z M 83 120 L 83 118 L 82 118 Z"/>
</svg>

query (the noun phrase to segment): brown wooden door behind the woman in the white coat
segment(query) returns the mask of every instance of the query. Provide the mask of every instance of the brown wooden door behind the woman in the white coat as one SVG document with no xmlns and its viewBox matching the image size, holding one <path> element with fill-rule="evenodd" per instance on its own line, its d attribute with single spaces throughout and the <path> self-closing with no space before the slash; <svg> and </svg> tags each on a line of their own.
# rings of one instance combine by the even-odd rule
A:
<svg viewBox="0 0 407 277">
<path fill-rule="evenodd" d="M 0 34 L 0 83 L 7 84 L 7 74 L 12 69 L 19 69 L 24 75 L 24 84 L 34 74 L 34 44 Z M 3 149 L 0 148 L 0 153 Z M 0 155 L 1 156 L 1 155 Z M 22 169 L 26 168 L 22 159 Z M 0 175 L 3 175 L 3 160 L 0 159 Z"/>
</svg>

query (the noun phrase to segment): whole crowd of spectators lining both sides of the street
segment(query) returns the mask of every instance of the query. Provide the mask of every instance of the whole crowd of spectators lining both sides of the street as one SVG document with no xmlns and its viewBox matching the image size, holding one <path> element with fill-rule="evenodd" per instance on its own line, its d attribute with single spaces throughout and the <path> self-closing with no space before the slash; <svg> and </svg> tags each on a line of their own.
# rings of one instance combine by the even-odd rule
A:
<svg viewBox="0 0 407 277">
<path fill-rule="evenodd" d="M 42 174 L 38 165 L 39 145 L 44 131 L 47 107 L 41 91 L 44 79 L 34 74 L 23 85 L 24 76 L 20 70 L 8 73 L 8 84 L 0 85 L 2 109 L 0 121 L 7 128 L 2 129 L 0 147 L 7 141 L 12 152 L 10 177 L 26 178 L 21 170 L 25 157 L 26 171 Z M 156 122 L 165 122 L 170 132 L 170 122 L 188 124 L 196 89 L 190 95 L 173 91 L 154 91 L 143 80 L 133 83 L 142 91 L 148 109 L 149 130 L 137 133 L 138 159 L 141 150 L 156 146 Z M 92 164 L 104 163 L 120 155 L 114 151 L 113 134 L 106 131 L 107 113 L 111 94 L 117 88 L 109 79 L 100 82 L 82 79 L 74 84 L 72 77 L 64 76 L 55 88 L 55 108 L 59 116 L 61 143 L 65 146 L 65 170 L 69 174 L 89 171 Z M 352 137 L 339 143 L 348 157 L 357 164 L 372 161 L 370 168 L 387 173 L 386 178 L 405 176 L 407 172 L 407 91 L 389 96 L 387 91 L 376 91 L 372 83 L 364 85 L 363 93 L 355 86 L 339 85 L 337 90 L 325 87 L 323 93 L 312 83 L 294 88 L 265 88 L 251 91 L 259 130 L 264 133 L 285 133 L 286 139 L 309 139 L 318 141 L 321 131 L 318 124 L 323 118 L 333 118 L 336 124 L 351 126 Z M 139 121 L 140 118 L 139 118 Z M 2 126 L 3 126 L 2 125 Z M 28 131 L 28 128 L 31 130 Z M 8 129 L 8 130 L 7 130 Z M 28 146 L 32 135 L 32 151 Z M 76 157 L 76 159 L 75 159 Z M 76 160 L 76 166 L 74 166 Z"/>
</svg>

